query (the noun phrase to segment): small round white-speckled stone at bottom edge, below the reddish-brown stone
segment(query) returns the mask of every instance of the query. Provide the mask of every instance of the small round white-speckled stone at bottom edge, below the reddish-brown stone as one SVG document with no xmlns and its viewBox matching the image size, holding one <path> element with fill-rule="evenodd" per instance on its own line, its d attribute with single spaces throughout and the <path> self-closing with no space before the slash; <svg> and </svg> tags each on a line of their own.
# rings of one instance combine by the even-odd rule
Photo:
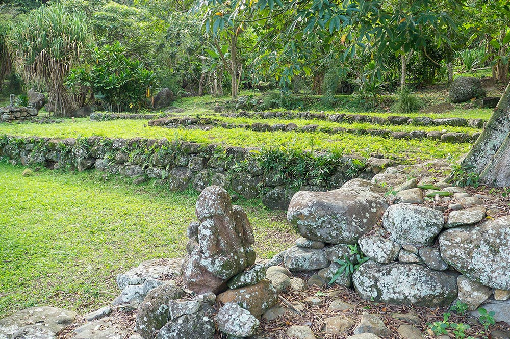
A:
<svg viewBox="0 0 510 339">
<path fill-rule="evenodd" d="M 227 302 L 214 317 L 218 329 L 227 336 L 247 337 L 257 333 L 260 322 L 234 302 Z"/>
</svg>

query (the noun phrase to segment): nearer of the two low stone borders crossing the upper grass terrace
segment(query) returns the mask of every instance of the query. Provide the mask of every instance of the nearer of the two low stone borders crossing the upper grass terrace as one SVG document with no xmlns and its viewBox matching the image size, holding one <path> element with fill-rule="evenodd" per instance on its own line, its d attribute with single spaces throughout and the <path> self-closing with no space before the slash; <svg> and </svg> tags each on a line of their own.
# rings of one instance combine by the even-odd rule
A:
<svg viewBox="0 0 510 339">
<path fill-rule="evenodd" d="M 383 138 L 394 138 L 394 139 L 436 139 L 443 142 L 449 143 L 465 143 L 475 142 L 480 136 L 479 132 L 468 134 L 468 133 L 457 133 L 443 131 L 411 131 L 411 132 L 392 132 L 387 129 L 358 129 L 358 128 L 329 128 L 321 127 L 319 125 L 306 125 L 298 127 L 294 123 L 288 124 L 274 124 L 269 125 L 265 123 L 253 123 L 253 124 L 231 124 L 222 122 L 221 120 L 214 118 L 193 118 L 193 117 L 164 117 L 148 122 L 149 126 L 159 126 L 166 128 L 180 128 L 185 127 L 189 129 L 203 129 L 207 131 L 212 127 L 222 128 L 244 128 L 250 129 L 251 131 L 257 132 L 276 132 L 276 131 L 294 131 L 294 132 L 321 132 L 327 134 L 337 133 L 349 133 L 357 135 L 370 135 L 378 136 Z"/>
</svg>

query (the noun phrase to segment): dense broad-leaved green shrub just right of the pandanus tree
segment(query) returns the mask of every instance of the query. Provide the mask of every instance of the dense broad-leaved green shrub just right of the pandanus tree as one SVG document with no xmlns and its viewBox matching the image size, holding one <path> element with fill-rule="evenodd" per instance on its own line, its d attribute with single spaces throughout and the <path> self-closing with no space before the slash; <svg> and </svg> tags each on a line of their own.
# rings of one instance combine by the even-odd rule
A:
<svg viewBox="0 0 510 339">
<path fill-rule="evenodd" d="M 119 42 L 96 47 L 93 64 L 75 68 L 69 74 L 70 86 L 89 89 L 108 111 L 136 111 L 147 105 L 156 75 L 138 60 L 125 55 Z"/>
</svg>

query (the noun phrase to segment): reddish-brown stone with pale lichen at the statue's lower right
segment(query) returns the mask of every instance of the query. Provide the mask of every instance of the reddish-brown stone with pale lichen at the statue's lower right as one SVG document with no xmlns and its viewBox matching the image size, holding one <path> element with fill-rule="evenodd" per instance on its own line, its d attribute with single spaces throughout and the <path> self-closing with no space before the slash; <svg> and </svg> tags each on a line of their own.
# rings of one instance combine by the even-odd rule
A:
<svg viewBox="0 0 510 339">
<path fill-rule="evenodd" d="M 216 301 L 222 305 L 233 301 L 253 316 L 260 317 L 278 301 L 278 292 L 268 280 L 263 279 L 253 286 L 227 290 L 218 295 Z"/>
</svg>

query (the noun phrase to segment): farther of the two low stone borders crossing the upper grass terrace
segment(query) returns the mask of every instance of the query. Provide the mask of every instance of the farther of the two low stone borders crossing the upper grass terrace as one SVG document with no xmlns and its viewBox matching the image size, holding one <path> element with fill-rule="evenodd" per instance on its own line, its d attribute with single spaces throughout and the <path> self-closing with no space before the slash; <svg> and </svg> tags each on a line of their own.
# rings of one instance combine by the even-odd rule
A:
<svg viewBox="0 0 510 339">
<path fill-rule="evenodd" d="M 451 126 L 473 128 L 483 128 L 487 120 L 484 119 L 465 119 L 465 118 L 439 118 L 432 119 L 427 116 L 422 117 L 406 117 L 406 116 L 389 116 L 387 118 L 374 117 L 362 114 L 325 114 L 311 112 L 246 112 L 239 113 L 223 113 L 224 117 L 244 117 L 257 119 L 316 119 L 329 120 L 334 122 L 368 122 L 379 125 L 416 125 L 416 126 Z"/>
</svg>

